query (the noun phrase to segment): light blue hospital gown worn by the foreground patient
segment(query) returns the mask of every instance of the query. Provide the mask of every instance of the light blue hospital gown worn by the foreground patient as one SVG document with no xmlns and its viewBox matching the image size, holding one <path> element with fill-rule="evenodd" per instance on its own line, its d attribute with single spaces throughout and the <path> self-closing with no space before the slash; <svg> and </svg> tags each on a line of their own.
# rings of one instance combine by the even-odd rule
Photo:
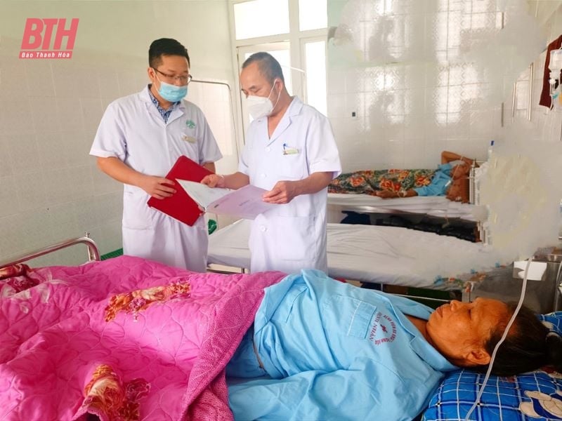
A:
<svg viewBox="0 0 562 421">
<path fill-rule="evenodd" d="M 404 315 L 431 312 L 320 271 L 287 276 L 254 322 L 271 378 L 229 386 L 235 420 L 412 420 L 455 369 Z"/>
</svg>

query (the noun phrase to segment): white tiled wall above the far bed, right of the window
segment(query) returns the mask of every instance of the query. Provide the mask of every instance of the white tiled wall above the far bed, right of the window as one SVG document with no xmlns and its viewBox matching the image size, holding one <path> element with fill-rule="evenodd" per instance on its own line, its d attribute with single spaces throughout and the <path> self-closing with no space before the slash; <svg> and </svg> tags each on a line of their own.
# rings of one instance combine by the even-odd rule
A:
<svg viewBox="0 0 562 421">
<path fill-rule="evenodd" d="M 501 4 L 536 13 L 542 32 L 527 30 L 529 15 L 501 13 Z M 490 140 L 512 121 L 520 73 L 513 120 L 528 116 L 533 60 L 532 119 L 537 127 L 545 118 L 551 124 L 554 117 L 537 105 L 540 51 L 561 30 L 559 4 L 329 0 L 336 30 L 328 50 L 328 116 L 344 170 L 434 168 L 443 150 L 485 159 Z M 522 23 L 510 29 L 515 19 Z M 502 36 L 518 34 L 517 45 L 495 50 L 502 26 Z M 480 58 L 473 60 L 475 52 Z"/>
</svg>

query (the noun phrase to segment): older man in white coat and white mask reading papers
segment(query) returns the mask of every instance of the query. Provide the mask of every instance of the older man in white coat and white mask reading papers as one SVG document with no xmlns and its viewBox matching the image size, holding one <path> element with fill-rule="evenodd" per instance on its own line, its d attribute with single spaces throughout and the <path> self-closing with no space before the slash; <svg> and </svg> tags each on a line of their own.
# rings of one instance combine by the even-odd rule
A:
<svg viewBox="0 0 562 421">
<path fill-rule="evenodd" d="M 329 121 L 287 93 L 281 66 L 268 53 L 244 62 L 240 86 L 254 121 L 238 172 L 202 182 L 232 189 L 255 185 L 268 190 L 263 201 L 279 205 L 251 227 L 251 272 L 327 272 L 327 185 L 341 173 Z"/>
</svg>

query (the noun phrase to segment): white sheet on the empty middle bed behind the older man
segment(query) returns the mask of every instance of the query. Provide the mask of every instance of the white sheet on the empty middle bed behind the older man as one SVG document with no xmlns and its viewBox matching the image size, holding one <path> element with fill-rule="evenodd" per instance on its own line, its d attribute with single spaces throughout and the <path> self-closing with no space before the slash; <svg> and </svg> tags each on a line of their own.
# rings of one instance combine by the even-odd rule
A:
<svg viewBox="0 0 562 421">
<path fill-rule="evenodd" d="M 208 262 L 248 269 L 250 227 L 239 220 L 211 234 Z M 401 227 L 328 224 L 327 237 L 329 276 L 362 282 L 459 290 L 455 275 L 471 272 L 466 262 L 497 260 L 483 243 Z"/>
</svg>

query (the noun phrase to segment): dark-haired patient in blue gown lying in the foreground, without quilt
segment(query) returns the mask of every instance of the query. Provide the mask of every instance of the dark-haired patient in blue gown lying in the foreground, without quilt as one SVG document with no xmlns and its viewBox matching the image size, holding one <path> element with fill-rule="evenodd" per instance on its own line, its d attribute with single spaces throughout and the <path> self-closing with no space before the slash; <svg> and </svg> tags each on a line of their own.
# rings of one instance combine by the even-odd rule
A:
<svg viewBox="0 0 562 421">
<path fill-rule="evenodd" d="M 288 276 L 266 288 L 254 329 L 227 366 L 227 375 L 261 377 L 230 385 L 230 406 L 236 420 L 412 420 L 444 372 L 487 368 L 513 311 L 479 298 L 433 312 L 322 272 Z M 510 332 L 496 373 L 547 361 L 548 330 L 530 310 Z M 524 344 L 525 358 L 511 342 Z"/>
</svg>

